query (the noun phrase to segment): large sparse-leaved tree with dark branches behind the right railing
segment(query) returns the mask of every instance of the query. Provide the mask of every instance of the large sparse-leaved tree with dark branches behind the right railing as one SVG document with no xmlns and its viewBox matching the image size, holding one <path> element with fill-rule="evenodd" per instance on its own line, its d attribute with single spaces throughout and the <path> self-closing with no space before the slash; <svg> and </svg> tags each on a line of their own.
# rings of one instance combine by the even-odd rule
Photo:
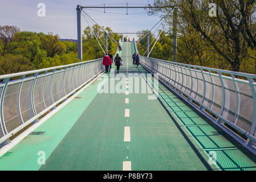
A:
<svg viewBox="0 0 256 182">
<path fill-rule="evenodd" d="M 187 55 L 180 52 L 181 56 L 184 57 L 182 61 L 185 60 L 185 57 L 191 58 L 194 55 L 197 55 L 197 59 L 205 59 L 205 57 L 210 56 L 212 57 L 210 62 L 225 60 L 222 65 L 227 63 L 232 71 L 239 71 L 241 63 L 249 60 L 248 48 L 250 47 L 252 50 L 256 48 L 255 19 L 253 18 L 255 16 L 256 1 L 214 1 L 218 9 L 216 18 L 210 18 L 208 15 L 210 2 L 202 0 L 156 0 L 154 5 L 176 5 L 178 7 L 178 34 L 179 38 L 186 40 L 186 45 L 184 46 L 187 48 L 183 49 L 181 47 L 180 50 L 188 51 Z M 151 10 L 152 13 L 167 13 L 167 18 L 172 18 L 172 10 L 168 7 L 153 9 Z M 171 27 L 171 24 L 169 26 Z M 189 28 L 193 28 L 193 30 L 189 30 Z M 196 35 L 193 36 L 193 42 L 187 36 L 189 32 Z M 197 47 L 200 42 L 202 43 L 200 45 L 204 46 Z M 197 49 L 191 51 L 188 46 Z M 214 60 L 216 57 L 220 60 Z M 199 60 L 199 62 L 206 63 L 209 61 Z"/>
</svg>

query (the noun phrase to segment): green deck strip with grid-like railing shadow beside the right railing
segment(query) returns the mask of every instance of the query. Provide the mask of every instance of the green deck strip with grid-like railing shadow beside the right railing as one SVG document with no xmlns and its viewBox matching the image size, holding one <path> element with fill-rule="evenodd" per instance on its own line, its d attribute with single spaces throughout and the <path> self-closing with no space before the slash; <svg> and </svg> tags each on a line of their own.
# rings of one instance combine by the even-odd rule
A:
<svg viewBox="0 0 256 182">
<path fill-rule="evenodd" d="M 143 67 L 139 68 L 141 72 L 147 73 Z M 153 86 L 153 79 L 151 85 Z M 214 123 L 209 121 L 203 115 L 198 113 L 192 107 L 180 100 L 176 93 L 169 90 L 165 85 L 159 83 L 159 101 L 168 112 L 177 127 L 183 127 L 200 148 L 196 151 L 204 151 L 208 156 L 216 154 L 216 163 L 219 170 L 255 170 L 256 157 L 247 151 L 243 146 L 229 137 Z M 173 114 L 174 115 L 173 115 Z M 175 119 L 177 118 L 177 119 Z M 207 167 L 207 164 L 205 164 Z"/>
</svg>

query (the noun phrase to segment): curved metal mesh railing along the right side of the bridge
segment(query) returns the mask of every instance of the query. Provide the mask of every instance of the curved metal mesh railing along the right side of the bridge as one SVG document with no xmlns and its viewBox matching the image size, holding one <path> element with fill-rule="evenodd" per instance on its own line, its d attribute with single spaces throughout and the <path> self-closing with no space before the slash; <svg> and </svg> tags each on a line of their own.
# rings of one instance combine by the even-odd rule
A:
<svg viewBox="0 0 256 182">
<path fill-rule="evenodd" d="M 256 75 L 144 56 L 140 64 L 158 73 L 163 84 L 256 155 Z"/>
</svg>

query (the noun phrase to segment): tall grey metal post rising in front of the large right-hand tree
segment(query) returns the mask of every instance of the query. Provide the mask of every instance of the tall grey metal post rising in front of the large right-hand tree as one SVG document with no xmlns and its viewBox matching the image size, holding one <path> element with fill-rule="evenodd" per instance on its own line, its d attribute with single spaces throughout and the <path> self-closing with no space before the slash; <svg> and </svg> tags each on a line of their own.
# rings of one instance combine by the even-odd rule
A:
<svg viewBox="0 0 256 182">
<path fill-rule="evenodd" d="M 178 8 L 173 9 L 173 27 L 172 27 L 172 60 L 176 62 L 177 55 L 177 24 L 178 24 Z"/>
</svg>

